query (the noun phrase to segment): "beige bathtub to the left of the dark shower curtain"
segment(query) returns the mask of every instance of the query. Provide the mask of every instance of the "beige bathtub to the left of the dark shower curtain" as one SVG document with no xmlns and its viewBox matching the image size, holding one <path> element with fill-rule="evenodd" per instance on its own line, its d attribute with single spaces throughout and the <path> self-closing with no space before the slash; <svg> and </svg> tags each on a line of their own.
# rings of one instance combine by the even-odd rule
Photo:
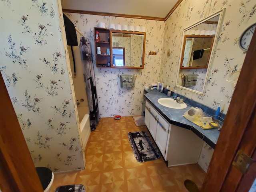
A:
<svg viewBox="0 0 256 192">
<path fill-rule="evenodd" d="M 77 106 L 77 110 L 78 110 L 78 118 L 80 122 L 80 131 L 81 131 L 83 148 L 85 149 L 85 146 L 87 144 L 87 141 L 91 133 L 90 116 L 89 116 L 90 110 L 88 106 Z"/>
</svg>

